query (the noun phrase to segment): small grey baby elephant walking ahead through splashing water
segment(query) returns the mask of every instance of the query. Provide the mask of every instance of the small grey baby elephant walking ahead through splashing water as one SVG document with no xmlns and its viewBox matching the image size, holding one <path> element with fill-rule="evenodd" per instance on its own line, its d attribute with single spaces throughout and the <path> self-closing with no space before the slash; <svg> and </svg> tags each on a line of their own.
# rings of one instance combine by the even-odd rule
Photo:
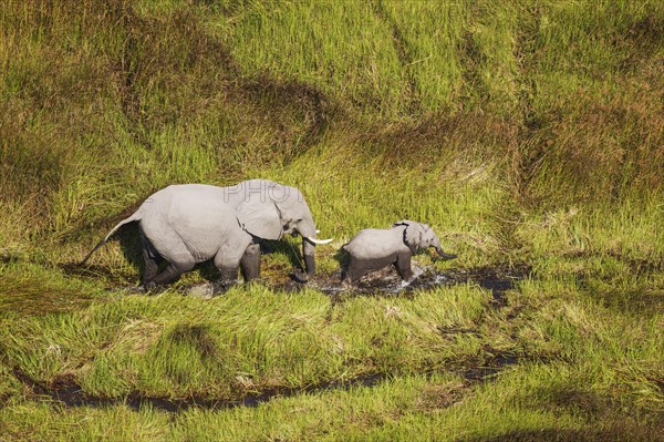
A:
<svg viewBox="0 0 664 442">
<path fill-rule="evenodd" d="M 456 258 L 456 255 L 443 253 L 440 240 L 426 224 L 404 219 L 394 223 L 392 228 L 365 228 L 342 247 L 350 254 L 344 279 L 355 282 L 364 275 L 390 265 L 396 267 L 398 276 L 408 279 L 413 276 L 411 257 L 427 247 L 435 247 L 445 259 Z"/>
</svg>

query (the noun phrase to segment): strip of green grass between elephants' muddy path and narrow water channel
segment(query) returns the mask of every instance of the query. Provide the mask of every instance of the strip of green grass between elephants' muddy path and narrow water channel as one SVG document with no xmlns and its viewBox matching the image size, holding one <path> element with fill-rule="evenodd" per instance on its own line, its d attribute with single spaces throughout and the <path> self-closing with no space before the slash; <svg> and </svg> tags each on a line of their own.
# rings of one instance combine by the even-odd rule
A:
<svg viewBox="0 0 664 442">
<path fill-rule="evenodd" d="M 34 316 L 2 341 L 10 360 L 46 384 L 69 376 L 94 395 L 237 399 L 253 389 L 434 370 L 458 354 L 474 358 L 477 340 L 443 346 L 438 328 L 471 327 L 487 297 L 468 288 L 426 292 L 417 302 L 359 297 L 332 305 L 314 290 L 253 287 L 201 310 L 199 298 L 179 294 L 124 296 L 80 312 Z M 240 373 L 250 380 L 245 387 L 237 384 Z"/>
</svg>

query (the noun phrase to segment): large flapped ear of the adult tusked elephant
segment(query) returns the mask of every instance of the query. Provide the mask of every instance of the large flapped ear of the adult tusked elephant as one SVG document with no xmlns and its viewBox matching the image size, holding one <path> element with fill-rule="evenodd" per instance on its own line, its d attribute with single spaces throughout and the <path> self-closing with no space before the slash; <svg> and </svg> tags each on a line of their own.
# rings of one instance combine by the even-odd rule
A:
<svg viewBox="0 0 664 442">
<path fill-rule="evenodd" d="M 264 199 L 264 201 L 261 201 Z M 262 239 L 281 238 L 281 214 L 269 198 L 251 194 L 236 210 L 240 227 Z"/>
</svg>

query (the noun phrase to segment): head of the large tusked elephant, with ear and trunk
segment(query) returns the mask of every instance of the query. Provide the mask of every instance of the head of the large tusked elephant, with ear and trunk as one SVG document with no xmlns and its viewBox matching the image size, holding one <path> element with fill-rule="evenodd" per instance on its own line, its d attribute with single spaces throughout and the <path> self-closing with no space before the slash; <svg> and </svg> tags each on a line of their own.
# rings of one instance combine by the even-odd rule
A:
<svg viewBox="0 0 664 442">
<path fill-rule="evenodd" d="M 236 212 L 239 225 L 262 239 L 279 239 L 284 234 L 302 236 L 307 277 L 313 276 L 314 244 L 328 244 L 332 239 L 317 239 L 313 216 L 300 191 L 264 179 L 248 181 L 243 185 L 245 196 Z"/>
</svg>

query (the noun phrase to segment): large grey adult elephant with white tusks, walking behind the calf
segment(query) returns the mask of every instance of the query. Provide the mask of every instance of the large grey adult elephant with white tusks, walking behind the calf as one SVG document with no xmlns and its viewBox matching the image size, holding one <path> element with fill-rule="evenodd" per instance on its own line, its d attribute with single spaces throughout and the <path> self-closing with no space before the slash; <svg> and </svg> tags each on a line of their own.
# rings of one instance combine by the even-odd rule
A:
<svg viewBox="0 0 664 442">
<path fill-rule="evenodd" d="M 284 234 L 302 236 L 307 280 L 315 273 L 317 229 L 304 197 L 294 187 L 268 179 L 249 179 L 229 187 L 206 184 L 172 185 L 151 195 L 120 222 L 81 264 L 125 224 L 138 222 L 145 271 L 142 286 L 174 281 L 197 263 L 214 259 L 222 284 L 237 279 L 241 265 L 246 281 L 259 276 L 261 239 Z M 165 259 L 168 265 L 158 271 Z"/>
</svg>

